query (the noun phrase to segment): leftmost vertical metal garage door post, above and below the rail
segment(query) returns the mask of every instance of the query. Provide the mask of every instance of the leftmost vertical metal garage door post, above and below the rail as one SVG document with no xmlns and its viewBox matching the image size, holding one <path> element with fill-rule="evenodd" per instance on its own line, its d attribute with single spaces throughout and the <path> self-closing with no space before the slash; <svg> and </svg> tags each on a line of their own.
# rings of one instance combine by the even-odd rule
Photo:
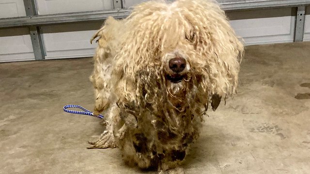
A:
<svg viewBox="0 0 310 174">
<path fill-rule="evenodd" d="M 38 15 L 36 0 L 24 0 L 26 15 Z M 46 56 L 45 44 L 41 28 L 37 26 L 29 27 L 33 53 L 36 60 L 43 60 Z"/>
</svg>

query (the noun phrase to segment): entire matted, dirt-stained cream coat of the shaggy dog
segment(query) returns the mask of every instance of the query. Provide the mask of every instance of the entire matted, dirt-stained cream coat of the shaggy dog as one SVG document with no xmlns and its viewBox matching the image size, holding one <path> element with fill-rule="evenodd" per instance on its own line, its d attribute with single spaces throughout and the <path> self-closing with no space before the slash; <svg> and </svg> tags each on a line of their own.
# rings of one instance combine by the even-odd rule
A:
<svg viewBox="0 0 310 174">
<path fill-rule="evenodd" d="M 237 86 L 243 44 L 224 12 L 213 0 L 148 1 L 109 17 L 95 38 L 90 80 L 107 129 L 92 148 L 119 147 L 129 165 L 183 173 L 176 167 L 209 103 L 215 110 Z"/>
</svg>

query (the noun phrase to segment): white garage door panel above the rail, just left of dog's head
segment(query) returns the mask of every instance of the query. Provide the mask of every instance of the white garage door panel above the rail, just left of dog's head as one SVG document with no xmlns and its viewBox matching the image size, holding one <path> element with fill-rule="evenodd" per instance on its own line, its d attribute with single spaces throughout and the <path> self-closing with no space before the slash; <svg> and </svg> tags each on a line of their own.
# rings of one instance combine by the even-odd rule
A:
<svg viewBox="0 0 310 174">
<path fill-rule="evenodd" d="M 37 0 L 39 14 L 59 14 L 112 9 L 112 0 Z"/>
</svg>

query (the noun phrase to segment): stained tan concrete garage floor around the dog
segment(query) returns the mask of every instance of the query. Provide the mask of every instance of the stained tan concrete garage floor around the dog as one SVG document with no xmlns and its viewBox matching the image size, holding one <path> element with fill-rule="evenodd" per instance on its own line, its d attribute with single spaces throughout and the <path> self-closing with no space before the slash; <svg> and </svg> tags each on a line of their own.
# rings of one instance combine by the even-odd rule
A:
<svg viewBox="0 0 310 174">
<path fill-rule="evenodd" d="M 187 174 L 310 173 L 309 48 L 247 47 L 238 94 L 205 117 Z M 125 166 L 117 148 L 86 149 L 103 131 L 99 119 L 62 111 L 93 108 L 92 66 L 91 58 L 0 64 L 0 174 L 155 174 Z"/>
</svg>

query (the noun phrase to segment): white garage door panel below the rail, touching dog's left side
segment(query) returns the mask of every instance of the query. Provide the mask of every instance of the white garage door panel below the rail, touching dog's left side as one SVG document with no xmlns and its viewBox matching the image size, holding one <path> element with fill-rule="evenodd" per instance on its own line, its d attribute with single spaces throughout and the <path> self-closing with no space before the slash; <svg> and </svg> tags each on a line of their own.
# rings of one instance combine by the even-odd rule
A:
<svg viewBox="0 0 310 174">
<path fill-rule="evenodd" d="M 102 23 L 103 21 L 42 27 L 45 33 L 46 59 L 93 56 L 97 44 L 91 44 L 90 40 Z"/>
</svg>

